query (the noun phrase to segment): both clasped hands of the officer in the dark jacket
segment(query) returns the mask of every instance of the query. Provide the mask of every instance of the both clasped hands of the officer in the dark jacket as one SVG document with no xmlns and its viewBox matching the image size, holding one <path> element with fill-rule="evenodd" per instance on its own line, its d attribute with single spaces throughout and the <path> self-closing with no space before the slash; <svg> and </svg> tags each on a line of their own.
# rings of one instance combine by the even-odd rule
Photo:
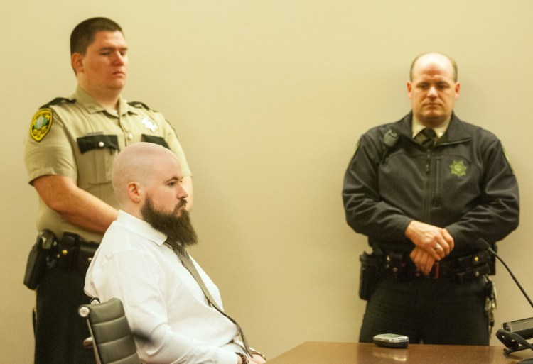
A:
<svg viewBox="0 0 533 364">
<path fill-rule="evenodd" d="M 415 245 L 409 257 L 416 270 L 428 275 L 435 262 L 446 257 L 453 250 L 453 237 L 446 228 L 439 228 L 420 221 L 411 221 L 405 236 Z"/>
</svg>

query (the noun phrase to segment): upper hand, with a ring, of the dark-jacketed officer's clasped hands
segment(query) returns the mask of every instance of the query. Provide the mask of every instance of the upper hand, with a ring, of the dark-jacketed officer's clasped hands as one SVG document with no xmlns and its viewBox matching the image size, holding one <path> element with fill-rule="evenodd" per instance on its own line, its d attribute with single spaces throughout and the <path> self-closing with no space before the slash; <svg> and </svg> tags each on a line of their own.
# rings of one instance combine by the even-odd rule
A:
<svg viewBox="0 0 533 364">
<path fill-rule="evenodd" d="M 446 257 L 453 250 L 453 237 L 448 233 L 446 228 L 439 228 L 438 226 L 413 220 L 405 229 L 405 236 L 417 248 L 424 250 L 436 261 Z M 415 253 L 415 255 L 419 256 L 419 253 Z"/>
</svg>

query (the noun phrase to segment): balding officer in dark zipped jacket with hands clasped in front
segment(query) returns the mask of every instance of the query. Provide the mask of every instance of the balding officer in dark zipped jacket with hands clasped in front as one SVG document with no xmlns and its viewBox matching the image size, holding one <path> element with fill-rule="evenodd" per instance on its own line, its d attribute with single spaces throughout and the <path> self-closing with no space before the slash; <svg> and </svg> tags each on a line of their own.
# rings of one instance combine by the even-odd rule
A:
<svg viewBox="0 0 533 364">
<path fill-rule="evenodd" d="M 495 244 L 518 226 L 517 180 L 497 137 L 461 121 L 456 63 L 425 53 L 411 65 L 411 112 L 359 140 L 343 185 L 348 224 L 368 236 L 360 341 L 488 345 Z"/>
</svg>

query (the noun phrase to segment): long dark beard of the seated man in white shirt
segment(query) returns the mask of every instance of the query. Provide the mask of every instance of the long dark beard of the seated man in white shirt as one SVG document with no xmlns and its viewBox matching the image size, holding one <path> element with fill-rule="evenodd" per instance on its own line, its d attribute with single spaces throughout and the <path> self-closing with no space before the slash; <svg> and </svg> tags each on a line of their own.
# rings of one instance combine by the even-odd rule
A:
<svg viewBox="0 0 533 364">
<path fill-rule="evenodd" d="M 198 236 L 194 231 L 193 224 L 190 223 L 189 211 L 182 209 L 181 215 L 177 216 L 178 210 L 185 206 L 186 202 L 180 202 L 173 212 L 156 211 L 150 197 L 146 197 L 146 202 L 141 208 L 144 221 L 153 228 L 168 236 L 166 243 L 173 246 L 178 244 L 183 247 L 192 246 L 198 243 Z"/>
</svg>

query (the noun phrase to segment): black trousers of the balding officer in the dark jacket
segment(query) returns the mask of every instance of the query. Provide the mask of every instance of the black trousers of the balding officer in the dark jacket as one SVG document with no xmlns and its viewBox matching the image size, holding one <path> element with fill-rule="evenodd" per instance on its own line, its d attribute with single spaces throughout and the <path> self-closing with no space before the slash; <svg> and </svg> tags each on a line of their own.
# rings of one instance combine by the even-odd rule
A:
<svg viewBox="0 0 533 364">
<path fill-rule="evenodd" d="M 481 278 L 462 284 L 426 277 L 397 282 L 386 274 L 367 302 L 359 341 L 398 333 L 409 343 L 488 345 L 485 298 Z"/>
</svg>

